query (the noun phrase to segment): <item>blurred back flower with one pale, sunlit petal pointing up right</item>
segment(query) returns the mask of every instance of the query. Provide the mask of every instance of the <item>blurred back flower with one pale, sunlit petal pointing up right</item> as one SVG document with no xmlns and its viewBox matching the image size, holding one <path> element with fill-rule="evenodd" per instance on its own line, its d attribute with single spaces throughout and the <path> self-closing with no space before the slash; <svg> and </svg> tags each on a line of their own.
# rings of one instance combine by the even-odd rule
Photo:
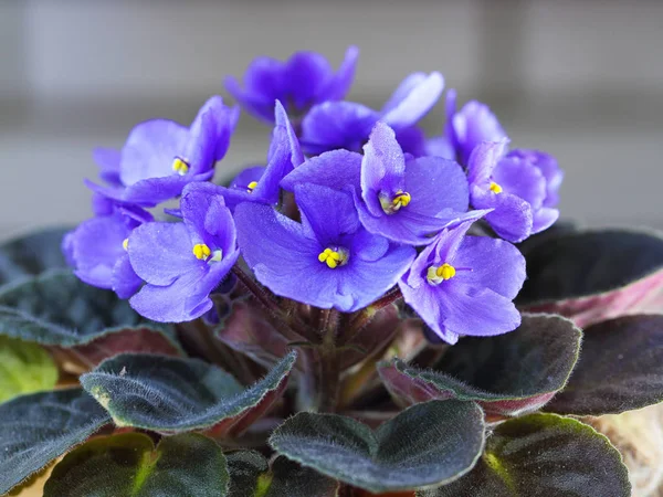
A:
<svg viewBox="0 0 663 497">
<path fill-rule="evenodd" d="M 389 125 L 407 152 L 420 155 L 423 134 L 414 127 L 444 89 L 440 73 L 414 73 L 403 80 L 380 112 L 354 102 L 316 105 L 302 121 L 302 145 L 318 155 L 344 148 L 359 151 L 378 120 Z"/>
</svg>

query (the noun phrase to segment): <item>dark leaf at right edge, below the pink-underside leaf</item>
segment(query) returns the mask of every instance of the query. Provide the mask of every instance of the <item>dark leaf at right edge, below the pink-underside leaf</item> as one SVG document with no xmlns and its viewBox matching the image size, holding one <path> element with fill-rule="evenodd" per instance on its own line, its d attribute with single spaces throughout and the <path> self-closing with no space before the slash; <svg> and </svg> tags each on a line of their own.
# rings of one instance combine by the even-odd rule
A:
<svg viewBox="0 0 663 497">
<path fill-rule="evenodd" d="M 661 401 L 663 316 L 636 315 L 585 329 L 578 366 L 546 411 L 619 414 Z"/>
</svg>

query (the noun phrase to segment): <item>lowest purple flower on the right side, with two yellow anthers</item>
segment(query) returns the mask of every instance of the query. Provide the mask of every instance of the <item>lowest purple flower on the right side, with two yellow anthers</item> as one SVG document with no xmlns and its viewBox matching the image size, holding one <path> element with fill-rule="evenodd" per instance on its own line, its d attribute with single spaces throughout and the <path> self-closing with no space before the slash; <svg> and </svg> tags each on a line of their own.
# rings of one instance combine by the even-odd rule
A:
<svg viewBox="0 0 663 497">
<path fill-rule="evenodd" d="M 466 236 L 471 224 L 443 231 L 399 282 L 406 303 L 449 343 L 520 324 L 512 300 L 525 281 L 525 258 L 504 240 Z"/>
</svg>

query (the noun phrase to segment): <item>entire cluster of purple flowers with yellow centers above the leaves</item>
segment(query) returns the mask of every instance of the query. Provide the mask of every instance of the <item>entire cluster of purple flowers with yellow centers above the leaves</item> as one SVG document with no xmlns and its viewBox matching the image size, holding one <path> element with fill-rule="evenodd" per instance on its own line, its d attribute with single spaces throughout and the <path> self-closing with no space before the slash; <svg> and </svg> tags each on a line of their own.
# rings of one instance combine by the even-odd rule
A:
<svg viewBox="0 0 663 497">
<path fill-rule="evenodd" d="M 350 47 L 335 72 L 316 53 L 260 57 L 243 87 L 228 78 L 274 125 L 265 165 L 228 186 L 212 179 L 240 112 L 219 96 L 189 127 L 149 120 L 122 150 L 97 150 L 95 215 L 63 242 L 76 275 L 166 322 L 211 311 L 248 266 L 281 302 L 341 313 L 400 292 L 450 343 L 515 329 L 525 262 L 512 243 L 557 220 L 556 160 L 508 150 L 488 107 L 459 110 L 454 91 L 444 135 L 427 138 L 418 123 L 444 91 L 436 72 L 406 77 L 379 110 L 343 101 L 357 59 Z M 155 209 L 172 199 L 179 208 Z"/>
</svg>

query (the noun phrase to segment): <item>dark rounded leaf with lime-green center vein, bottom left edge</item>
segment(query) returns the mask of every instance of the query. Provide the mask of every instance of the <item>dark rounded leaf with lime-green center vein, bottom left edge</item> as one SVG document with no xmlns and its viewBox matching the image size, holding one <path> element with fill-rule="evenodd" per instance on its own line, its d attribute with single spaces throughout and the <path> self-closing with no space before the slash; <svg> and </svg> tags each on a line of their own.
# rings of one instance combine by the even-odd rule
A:
<svg viewBox="0 0 663 497">
<path fill-rule="evenodd" d="M 92 440 L 67 454 L 44 486 L 44 497 L 225 497 L 221 447 L 196 433 L 161 438 L 140 433 Z"/>
</svg>

